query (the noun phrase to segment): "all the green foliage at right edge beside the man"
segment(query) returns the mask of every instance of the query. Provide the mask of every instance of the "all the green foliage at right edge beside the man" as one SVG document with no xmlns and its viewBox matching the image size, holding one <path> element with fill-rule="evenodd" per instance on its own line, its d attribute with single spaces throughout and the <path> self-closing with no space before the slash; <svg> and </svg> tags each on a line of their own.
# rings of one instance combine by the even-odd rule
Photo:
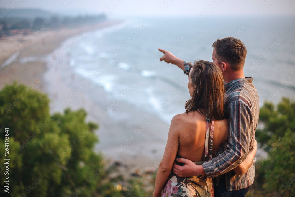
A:
<svg viewBox="0 0 295 197">
<path fill-rule="evenodd" d="M 295 196 L 295 102 L 282 98 L 275 107 L 266 102 L 256 135 L 267 144 L 268 158 L 255 163 L 255 182 L 248 196 Z"/>
</svg>

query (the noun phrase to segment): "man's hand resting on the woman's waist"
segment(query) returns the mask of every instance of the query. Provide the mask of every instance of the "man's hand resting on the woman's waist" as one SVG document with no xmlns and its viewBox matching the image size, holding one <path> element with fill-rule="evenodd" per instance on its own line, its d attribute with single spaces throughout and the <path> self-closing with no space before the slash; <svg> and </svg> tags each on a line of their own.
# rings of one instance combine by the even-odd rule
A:
<svg viewBox="0 0 295 197">
<path fill-rule="evenodd" d="M 191 176 L 204 176 L 205 171 L 202 165 L 196 165 L 194 162 L 184 158 L 178 158 L 178 162 L 184 163 L 183 166 L 177 165 L 175 162 L 173 164 L 173 172 L 180 177 L 191 177 Z"/>
</svg>

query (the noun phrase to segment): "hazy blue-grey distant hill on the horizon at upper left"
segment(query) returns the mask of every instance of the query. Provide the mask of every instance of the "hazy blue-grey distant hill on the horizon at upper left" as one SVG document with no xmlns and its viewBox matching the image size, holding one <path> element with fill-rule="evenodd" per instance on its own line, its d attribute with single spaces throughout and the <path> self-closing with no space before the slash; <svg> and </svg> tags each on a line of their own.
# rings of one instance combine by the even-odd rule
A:
<svg viewBox="0 0 295 197">
<path fill-rule="evenodd" d="M 4 10 L 4 11 L 3 11 Z M 5 12 L 6 8 L 0 8 L 0 18 L 3 17 L 24 17 L 24 18 L 35 18 L 35 17 L 42 17 L 42 18 L 50 18 L 54 13 L 49 12 L 42 9 L 17 9 L 13 8 L 9 12 Z M 5 14 L 5 15 L 4 15 Z"/>
</svg>

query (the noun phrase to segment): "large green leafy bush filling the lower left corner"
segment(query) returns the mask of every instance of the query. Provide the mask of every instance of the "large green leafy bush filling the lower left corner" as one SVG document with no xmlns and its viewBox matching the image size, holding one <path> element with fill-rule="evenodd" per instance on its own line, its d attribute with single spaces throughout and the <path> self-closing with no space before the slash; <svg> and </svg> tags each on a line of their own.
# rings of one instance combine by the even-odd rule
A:
<svg viewBox="0 0 295 197">
<path fill-rule="evenodd" d="M 13 83 L 0 91 L 0 146 L 9 128 L 11 196 L 95 196 L 104 176 L 102 156 L 92 150 L 98 126 L 85 123 L 83 109 L 50 116 L 48 104 L 33 87 Z M 2 172 L 2 188 L 4 178 Z"/>
</svg>

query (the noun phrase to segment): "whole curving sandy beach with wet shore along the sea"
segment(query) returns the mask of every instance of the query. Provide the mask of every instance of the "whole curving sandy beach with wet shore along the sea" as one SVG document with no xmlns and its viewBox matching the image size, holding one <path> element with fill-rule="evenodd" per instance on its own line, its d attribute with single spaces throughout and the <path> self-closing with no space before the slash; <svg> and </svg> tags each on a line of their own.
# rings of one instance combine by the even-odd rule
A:
<svg viewBox="0 0 295 197">
<path fill-rule="evenodd" d="M 104 29 L 104 27 L 113 27 L 117 24 L 121 23 L 116 21 L 106 22 L 99 24 L 99 28 L 85 29 L 85 32 L 96 32 Z M 134 173 L 144 173 L 147 168 L 158 168 L 154 161 L 161 156 L 158 150 L 164 151 L 165 149 L 163 140 L 167 140 L 169 129 L 169 125 L 162 122 L 158 117 L 138 111 L 121 102 L 117 106 L 117 110 L 136 114 L 137 119 L 133 120 L 132 126 L 114 121 L 110 116 L 105 116 L 103 113 L 104 107 L 110 105 L 110 103 L 106 99 L 108 93 L 102 87 L 95 88 L 95 93 L 100 96 L 99 100 L 93 101 L 91 96 L 87 95 L 88 92 L 92 91 L 91 83 L 89 86 L 85 86 L 85 90 L 75 97 L 73 101 L 67 102 L 66 98 L 69 98 L 70 94 L 75 91 L 75 88 L 81 86 L 83 84 L 82 81 L 85 79 L 73 72 L 73 68 L 70 67 L 70 55 L 65 55 L 65 58 L 62 58 L 58 65 L 53 65 L 52 62 L 58 57 L 57 54 L 65 50 L 64 47 L 67 42 L 77 37 L 81 30 L 84 31 L 82 27 L 76 29 L 74 31 L 76 34 L 67 32 L 67 36 L 61 35 L 61 32 L 58 34 L 47 32 L 46 35 L 50 36 L 46 37 L 46 45 L 42 45 L 42 43 L 44 44 L 44 38 L 40 36 L 39 38 L 36 37 L 34 42 L 31 42 L 30 45 L 20 51 L 17 57 L 13 57 L 15 53 L 12 53 L 7 58 L 12 58 L 12 61 L 0 70 L 0 88 L 3 88 L 6 83 L 11 84 L 14 80 L 27 86 L 32 85 L 33 80 L 39 80 L 40 83 L 34 89 L 48 95 L 51 101 L 50 114 L 56 112 L 63 113 L 66 107 L 70 107 L 72 110 L 84 108 L 87 112 L 86 121 L 99 124 L 99 129 L 95 131 L 99 137 L 99 143 L 96 144 L 94 150 L 103 154 L 108 165 L 119 163 L 118 170 L 120 174 L 130 178 Z M 55 37 L 57 35 L 61 36 Z M 11 46 L 14 47 L 15 45 Z M 66 83 L 65 80 L 71 83 Z M 142 139 L 145 135 L 143 132 L 136 137 L 135 141 L 128 144 L 128 147 L 124 147 L 124 150 L 118 153 L 117 150 L 120 150 L 121 145 L 126 142 L 125 139 L 131 136 L 129 133 L 141 127 L 144 121 L 151 122 L 151 125 L 144 132 L 156 135 L 160 129 L 166 131 L 167 135 L 163 140 L 152 145 L 150 140 Z M 161 138 L 162 136 L 158 137 Z"/>
</svg>

